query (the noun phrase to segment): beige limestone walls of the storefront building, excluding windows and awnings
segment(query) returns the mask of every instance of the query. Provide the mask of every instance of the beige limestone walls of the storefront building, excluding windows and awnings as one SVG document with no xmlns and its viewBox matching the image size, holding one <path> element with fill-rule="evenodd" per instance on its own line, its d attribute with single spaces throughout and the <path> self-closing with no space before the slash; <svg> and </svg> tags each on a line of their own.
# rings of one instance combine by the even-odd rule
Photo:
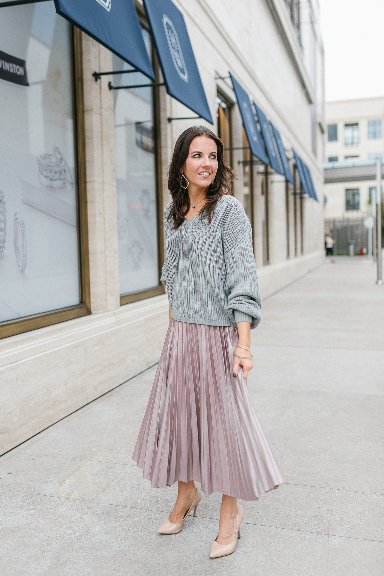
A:
<svg viewBox="0 0 384 576">
<path fill-rule="evenodd" d="M 217 86 L 233 101 L 233 146 L 242 146 L 241 117 L 227 76 L 235 73 L 251 98 L 309 165 L 320 203 L 305 204 L 305 255 L 294 258 L 293 196 L 290 195 L 291 258 L 286 260 L 285 187 L 270 177 L 270 260 L 263 266 L 261 176 L 254 167 L 255 257 L 265 298 L 306 274 L 324 259 L 321 158 L 311 150 L 308 98 L 266 2 L 175 0 L 182 10 L 197 58 L 203 87 L 217 130 Z M 309 84 L 304 55 L 283 0 L 275 5 Z M 247 18 L 244 18 L 244 14 Z M 109 70 L 110 52 L 84 35 L 83 75 L 86 128 L 86 180 L 90 253 L 90 316 L 0 340 L 0 453 L 156 363 L 167 330 L 167 295 L 120 306 L 116 177 L 114 168 L 113 92 L 108 78 L 94 81 L 94 70 Z M 160 78 L 161 81 L 161 78 Z M 314 90 L 309 86 L 314 98 Z M 168 116 L 194 114 L 160 88 L 162 154 L 160 198 L 169 201 L 167 167 L 179 134 L 205 120 L 167 122 Z M 319 112 L 320 114 L 320 112 Z M 239 180 L 235 196 L 243 202 L 243 151 L 233 153 Z M 298 212 L 297 212 L 298 214 Z M 298 217 L 299 247 L 299 217 Z M 299 254 L 299 248 L 298 248 Z"/>
</svg>

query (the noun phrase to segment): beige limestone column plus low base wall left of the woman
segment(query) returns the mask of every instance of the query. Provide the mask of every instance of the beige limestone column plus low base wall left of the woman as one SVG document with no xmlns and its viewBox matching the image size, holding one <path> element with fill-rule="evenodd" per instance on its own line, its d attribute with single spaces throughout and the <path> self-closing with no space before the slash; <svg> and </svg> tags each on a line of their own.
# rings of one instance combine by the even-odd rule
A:
<svg viewBox="0 0 384 576">
<path fill-rule="evenodd" d="M 120 306 L 112 56 L 82 47 L 92 314 L 0 340 L 0 453 L 158 362 L 168 326 L 166 295 Z"/>
</svg>

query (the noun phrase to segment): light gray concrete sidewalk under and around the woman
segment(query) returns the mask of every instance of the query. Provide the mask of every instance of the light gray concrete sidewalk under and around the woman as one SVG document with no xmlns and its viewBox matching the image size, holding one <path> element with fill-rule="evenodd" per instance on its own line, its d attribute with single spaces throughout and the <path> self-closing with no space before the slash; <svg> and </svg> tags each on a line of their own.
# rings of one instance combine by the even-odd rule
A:
<svg viewBox="0 0 384 576">
<path fill-rule="evenodd" d="M 383 574 L 384 286 L 336 258 L 268 298 L 248 387 L 287 483 L 241 502 L 236 552 L 209 558 L 220 495 L 156 532 L 176 486 L 130 456 L 156 367 L 0 457 L 2 576 Z"/>
</svg>

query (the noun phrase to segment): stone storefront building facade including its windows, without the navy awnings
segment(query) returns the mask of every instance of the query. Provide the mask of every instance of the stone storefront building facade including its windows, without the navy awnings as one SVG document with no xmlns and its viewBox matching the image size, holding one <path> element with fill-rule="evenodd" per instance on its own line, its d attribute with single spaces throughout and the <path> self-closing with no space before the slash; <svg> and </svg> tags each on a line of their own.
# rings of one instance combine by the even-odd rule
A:
<svg viewBox="0 0 384 576">
<path fill-rule="evenodd" d="M 168 320 L 160 283 L 167 168 L 179 134 L 209 125 L 169 122 L 194 115 L 164 86 L 111 90 L 128 74 L 95 79 L 128 65 L 57 16 L 53 2 L 2 3 L 0 50 L 19 70 L 26 63 L 29 86 L 0 75 L 0 453 L 158 362 Z M 318 4 L 174 3 L 212 129 L 238 175 L 233 194 L 252 224 L 265 298 L 324 258 Z M 135 6 L 161 84 L 145 11 Z M 251 157 L 229 72 L 278 128 L 294 186 Z M 292 148 L 318 202 L 301 192 Z"/>
</svg>

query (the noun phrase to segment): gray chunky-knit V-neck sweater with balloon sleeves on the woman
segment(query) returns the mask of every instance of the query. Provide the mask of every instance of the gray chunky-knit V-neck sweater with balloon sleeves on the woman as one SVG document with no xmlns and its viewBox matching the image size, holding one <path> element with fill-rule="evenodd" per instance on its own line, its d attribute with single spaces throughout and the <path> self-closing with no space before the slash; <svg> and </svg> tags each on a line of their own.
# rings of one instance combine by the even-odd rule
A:
<svg viewBox="0 0 384 576">
<path fill-rule="evenodd" d="M 212 221 L 197 214 L 172 230 L 166 219 L 162 282 L 174 320 L 233 326 L 261 320 L 262 300 L 252 250 L 252 232 L 243 206 L 233 196 L 217 200 Z M 172 221 L 170 221 L 172 224 Z"/>
</svg>

